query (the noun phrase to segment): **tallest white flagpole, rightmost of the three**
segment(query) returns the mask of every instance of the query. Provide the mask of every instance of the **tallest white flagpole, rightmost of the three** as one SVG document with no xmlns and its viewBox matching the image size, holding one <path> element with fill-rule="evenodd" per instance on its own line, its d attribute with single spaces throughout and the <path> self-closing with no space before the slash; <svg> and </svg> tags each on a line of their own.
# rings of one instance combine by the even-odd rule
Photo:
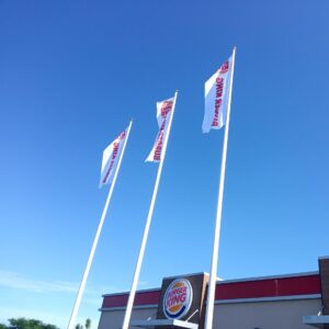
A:
<svg viewBox="0 0 329 329">
<path fill-rule="evenodd" d="M 234 70 L 235 70 L 235 58 L 236 58 L 236 47 L 232 50 L 232 57 L 231 57 L 231 76 L 230 76 L 230 81 L 229 81 L 227 117 L 226 117 L 226 125 L 225 125 L 225 133 L 224 133 L 224 140 L 223 140 L 223 154 L 222 154 L 222 166 L 220 166 L 219 189 L 218 189 L 218 203 L 217 203 L 216 224 L 215 224 L 215 234 L 214 234 L 212 270 L 211 270 L 209 283 L 208 283 L 208 296 L 207 296 L 205 327 L 204 327 L 205 329 L 213 328 L 214 302 L 215 302 L 215 291 L 216 291 L 216 282 L 217 282 L 219 235 L 220 235 L 220 223 L 222 223 L 222 208 L 223 208 L 226 154 L 227 154 L 227 141 L 228 141 L 228 129 L 229 129 L 232 79 L 234 79 Z"/>
</svg>

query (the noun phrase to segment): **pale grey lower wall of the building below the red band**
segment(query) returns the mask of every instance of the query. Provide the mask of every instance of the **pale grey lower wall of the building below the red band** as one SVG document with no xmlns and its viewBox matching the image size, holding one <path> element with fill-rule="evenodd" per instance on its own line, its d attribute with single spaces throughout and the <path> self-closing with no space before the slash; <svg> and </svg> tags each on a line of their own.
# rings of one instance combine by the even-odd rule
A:
<svg viewBox="0 0 329 329">
<path fill-rule="evenodd" d="M 215 305 L 213 329 L 310 329 L 303 325 L 303 316 L 317 315 L 321 308 L 320 298 L 292 300 L 229 302 Z M 99 329 L 122 328 L 125 309 L 103 310 Z M 133 320 L 155 319 L 157 306 L 135 308 Z M 133 328 L 133 327 L 129 327 Z"/>
</svg>

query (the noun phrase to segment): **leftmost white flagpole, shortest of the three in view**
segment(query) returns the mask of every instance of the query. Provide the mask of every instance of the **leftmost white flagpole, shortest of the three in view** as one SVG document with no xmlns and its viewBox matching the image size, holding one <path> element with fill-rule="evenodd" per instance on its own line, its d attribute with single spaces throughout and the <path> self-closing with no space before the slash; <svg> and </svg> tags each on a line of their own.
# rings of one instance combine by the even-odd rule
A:
<svg viewBox="0 0 329 329">
<path fill-rule="evenodd" d="M 93 256 L 94 256 L 94 252 L 95 252 L 95 249 L 97 249 L 97 246 L 98 246 L 98 242 L 99 242 L 99 238 L 100 238 L 100 235 L 101 235 L 101 230 L 102 230 L 102 227 L 103 227 L 103 224 L 104 224 L 104 219 L 105 219 L 105 216 L 106 216 L 106 213 L 107 213 L 107 207 L 109 207 L 109 204 L 110 204 L 110 201 L 111 201 L 111 197 L 112 197 L 112 193 L 113 193 L 116 177 L 117 177 L 117 173 L 118 173 L 118 170 L 120 170 L 121 161 L 123 159 L 123 155 L 125 152 L 125 148 L 126 148 L 126 145 L 127 145 L 127 141 L 128 141 L 132 125 L 133 125 L 133 121 L 131 121 L 128 129 L 127 129 L 126 140 L 125 140 L 125 144 L 123 146 L 123 149 L 122 149 L 118 162 L 117 162 L 117 168 L 115 170 L 113 181 L 112 181 L 112 184 L 111 184 L 110 190 L 109 190 L 109 194 L 107 194 L 107 198 L 106 198 L 105 206 L 104 206 L 104 209 L 103 209 L 103 214 L 102 214 L 101 220 L 99 223 L 97 234 L 94 236 L 94 240 L 93 240 L 93 243 L 92 243 L 92 247 L 91 247 L 89 259 L 88 259 L 88 262 L 87 262 L 87 265 L 86 265 L 86 269 L 84 269 L 82 281 L 80 283 L 80 287 L 79 287 L 79 291 L 78 291 L 78 295 L 77 295 L 77 298 L 76 298 L 76 303 L 75 303 L 73 310 L 72 310 L 72 314 L 71 314 L 71 317 L 70 317 L 67 329 L 72 329 L 72 327 L 75 325 L 75 321 L 76 321 L 76 317 L 78 315 L 78 310 L 79 310 L 79 307 L 80 307 L 80 304 L 81 304 L 82 294 L 83 294 L 83 291 L 84 291 L 84 287 L 86 287 L 86 283 L 87 283 L 87 280 L 88 280 L 88 275 L 89 275 L 89 271 L 90 271 L 91 263 L 92 263 L 92 260 L 93 260 Z"/>
</svg>

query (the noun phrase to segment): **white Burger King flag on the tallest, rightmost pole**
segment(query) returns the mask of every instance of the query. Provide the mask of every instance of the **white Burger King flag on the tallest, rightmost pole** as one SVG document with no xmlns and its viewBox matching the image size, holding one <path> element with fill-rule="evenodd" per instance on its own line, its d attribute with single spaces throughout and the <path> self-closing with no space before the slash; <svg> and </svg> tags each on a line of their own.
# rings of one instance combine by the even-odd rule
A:
<svg viewBox="0 0 329 329">
<path fill-rule="evenodd" d="M 226 124 L 231 64 L 230 57 L 220 66 L 219 70 L 205 82 L 203 133 L 209 133 L 211 129 L 220 129 Z"/>
</svg>

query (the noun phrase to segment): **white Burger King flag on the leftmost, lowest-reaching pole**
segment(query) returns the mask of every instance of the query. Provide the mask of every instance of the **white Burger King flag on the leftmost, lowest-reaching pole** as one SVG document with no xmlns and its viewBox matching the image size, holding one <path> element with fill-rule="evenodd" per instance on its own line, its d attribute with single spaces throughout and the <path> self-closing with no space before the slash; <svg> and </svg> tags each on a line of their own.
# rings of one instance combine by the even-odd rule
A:
<svg viewBox="0 0 329 329">
<path fill-rule="evenodd" d="M 123 131 L 103 151 L 100 189 L 103 185 L 111 184 L 113 181 L 118 159 L 126 140 L 126 132 L 127 129 Z"/>
</svg>

